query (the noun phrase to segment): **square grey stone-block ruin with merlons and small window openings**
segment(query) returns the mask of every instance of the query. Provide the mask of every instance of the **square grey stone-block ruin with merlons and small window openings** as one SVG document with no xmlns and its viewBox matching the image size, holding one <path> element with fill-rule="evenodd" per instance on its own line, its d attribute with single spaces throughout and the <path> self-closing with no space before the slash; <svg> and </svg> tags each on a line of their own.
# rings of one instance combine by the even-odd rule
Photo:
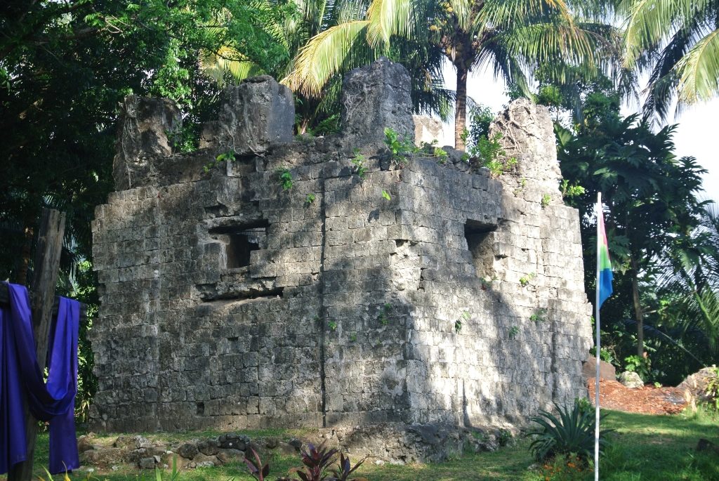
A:
<svg viewBox="0 0 719 481">
<path fill-rule="evenodd" d="M 92 429 L 506 426 L 585 395 L 579 218 L 543 107 L 498 116 L 519 162 L 493 179 L 457 152 L 390 168 L 384 127 L 414 126 L 387 60 L 347 75 L 339 136 L 292 142 L 291 93 L 269 77 L 224 98 L 189 154 L 168 141 L 170 101 L 125 101 L 93 222 Z"/>
</svg>

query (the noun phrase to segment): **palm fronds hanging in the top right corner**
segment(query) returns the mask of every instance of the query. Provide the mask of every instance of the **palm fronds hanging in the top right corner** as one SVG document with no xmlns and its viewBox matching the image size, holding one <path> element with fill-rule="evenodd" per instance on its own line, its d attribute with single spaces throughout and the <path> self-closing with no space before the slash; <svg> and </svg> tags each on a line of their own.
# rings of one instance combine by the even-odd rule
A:
<svg viewBox="0 0 719 481">
<path fill-rule="evenodd" d="M 719 1 L 624 0 L 626 65 L 649 71 L 644 114 L 665 119 L 719 94 Z"/>
</svg>

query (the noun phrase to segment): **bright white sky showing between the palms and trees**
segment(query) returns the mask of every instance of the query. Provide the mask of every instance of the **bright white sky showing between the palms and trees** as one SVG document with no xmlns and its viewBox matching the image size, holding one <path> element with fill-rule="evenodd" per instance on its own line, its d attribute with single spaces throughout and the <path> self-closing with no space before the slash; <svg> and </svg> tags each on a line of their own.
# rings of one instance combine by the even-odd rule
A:
<svg viewBox="0 0 719 481">
<path fill-rule="evenodd" d="M 444 81 L 447 88 L 455 88 L 456 79 L 451 67 L 445 68 Z M 508 102 L 505 89 L 504 81 L 495 80 L 490 72 L 473 72 L 467 81 L 467 94 L 495 112 Z M 622 114 L 628 115 L 638 109 L 639 106 L 624 106 Z M 696 157 L 699 165 L 708 171 L 702 178 L 703 197 L 719 200 L 719 99 L 685 109 L 668 123 L 678 124 L 674 133 L 677 156 Z M 443 134 L 439 145 L 454 145 L 453 124 L 445 124 Z"/>
</svg>

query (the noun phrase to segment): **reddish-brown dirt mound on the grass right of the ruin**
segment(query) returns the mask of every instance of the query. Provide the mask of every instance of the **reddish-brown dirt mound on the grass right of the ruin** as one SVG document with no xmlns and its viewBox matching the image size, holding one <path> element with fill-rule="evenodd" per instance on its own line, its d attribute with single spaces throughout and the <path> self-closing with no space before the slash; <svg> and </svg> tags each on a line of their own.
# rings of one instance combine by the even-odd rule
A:
<svg viewBox="0 0 719 481">
<path fill-rule="evenodd" d="M 592 405 L 595 400 L 595 378 L 588 380 L 589 397 Z M 655 388 L 646 385 L 644 388 L 630 389 L 620 382 L 600 380 L 599 405 L 602 408 L 643 414 L 676 414 L 684 409 L 684 400 L 679 388 Z"/>
</svg>

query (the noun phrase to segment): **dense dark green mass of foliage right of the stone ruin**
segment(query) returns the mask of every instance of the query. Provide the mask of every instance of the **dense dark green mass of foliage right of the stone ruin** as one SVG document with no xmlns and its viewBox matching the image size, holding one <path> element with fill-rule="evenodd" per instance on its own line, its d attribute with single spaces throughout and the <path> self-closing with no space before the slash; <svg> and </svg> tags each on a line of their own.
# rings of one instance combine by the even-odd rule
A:
<svg viewBox="0 0 719 481">
<path fill-rule="evenodd" d="M 615 271 L 614 294 L 602 309 L 603 357 L 646 382 L 676 384 L 718 359 L 715 216 L 700 201 L 705 171 L 693 157 L 674 156 L 675 126 L 653 132 L 636 115 L 623 118 L 611 86 L 600 79 L 575 89 L 582 101 L 576 114 L 562 91 L 551 98 L 569 125 L 555 124 L 565 201 L 580 209 L 593 299 L 593 209 L 603 193 Z"/>
</svg>

